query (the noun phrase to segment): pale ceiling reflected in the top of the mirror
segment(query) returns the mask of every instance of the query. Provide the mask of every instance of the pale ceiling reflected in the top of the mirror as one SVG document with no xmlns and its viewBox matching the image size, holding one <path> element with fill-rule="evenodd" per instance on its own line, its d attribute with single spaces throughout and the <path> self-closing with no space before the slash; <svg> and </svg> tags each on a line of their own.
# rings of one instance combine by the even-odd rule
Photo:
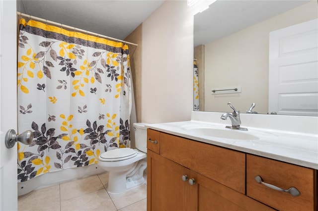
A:
<svg viewBox="0 0 318 211">
<path fill-rule="evenodd" d="M 194 47 L 240 31 L 310 0 L 217 0 L 194 16 Z"/>
</svg>

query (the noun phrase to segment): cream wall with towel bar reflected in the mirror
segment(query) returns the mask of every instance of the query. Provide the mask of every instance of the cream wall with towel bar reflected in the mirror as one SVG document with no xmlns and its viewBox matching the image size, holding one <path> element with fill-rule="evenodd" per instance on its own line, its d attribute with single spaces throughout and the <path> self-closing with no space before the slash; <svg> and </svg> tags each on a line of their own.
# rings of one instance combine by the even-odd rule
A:
<svg viewBox="0 0 318 211">
<path fill-rule="evenodd" d="M 212 5 L 213 6 L 213 5 Z M 245 112 L 268 111 L 269 32 L 317 18 L 312 1 L 205 45 L 205 110 L 230 111 L 231 102 Z M 241 86 L 240 94 L 211 95 L 211 88 Z"/>
</svg>

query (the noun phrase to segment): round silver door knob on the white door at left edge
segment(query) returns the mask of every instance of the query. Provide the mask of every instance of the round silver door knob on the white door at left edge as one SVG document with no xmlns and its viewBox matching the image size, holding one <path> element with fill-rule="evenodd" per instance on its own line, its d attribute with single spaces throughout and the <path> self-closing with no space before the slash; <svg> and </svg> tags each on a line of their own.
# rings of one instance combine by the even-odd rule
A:
<svg viewBox="0 0 318 211">
<path fill-rule="evenodd" d="M 23 133 L 16 135 L 14 130 L 8 130 L 5 134 L 5 146 L 6 148 L 12 148 L 15 142 L 19 141 L 25 145 L 31 144 L 33 140 L 33 133 L 31 130 L 24 131 Z"/>
</svg>

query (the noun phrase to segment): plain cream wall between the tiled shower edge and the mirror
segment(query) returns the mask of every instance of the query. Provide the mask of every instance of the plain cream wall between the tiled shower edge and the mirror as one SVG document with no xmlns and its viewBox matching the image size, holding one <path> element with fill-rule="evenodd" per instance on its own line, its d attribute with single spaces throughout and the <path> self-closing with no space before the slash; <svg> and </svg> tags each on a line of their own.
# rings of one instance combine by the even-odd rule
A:
<svg viewBox="0 0 318 211">
<path fill-rule="evenodd" d="M 142 121 L 190 120 L 193 110 L 193 14 L 166 0 L 143 22 Z"/>
</svg>

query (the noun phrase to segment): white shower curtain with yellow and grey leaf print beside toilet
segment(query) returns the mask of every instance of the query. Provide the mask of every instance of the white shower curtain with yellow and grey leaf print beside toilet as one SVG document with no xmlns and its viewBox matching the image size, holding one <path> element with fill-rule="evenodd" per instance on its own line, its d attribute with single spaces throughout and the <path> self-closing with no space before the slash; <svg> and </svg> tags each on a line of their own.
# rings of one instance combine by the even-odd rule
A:
<svg viewBox="0 0 318 211">
<path fill-rule="evenodd" d="M 123 43 L 20 19 L 18 182 L 130 147 L 130 62 Z"/>
</svg>

